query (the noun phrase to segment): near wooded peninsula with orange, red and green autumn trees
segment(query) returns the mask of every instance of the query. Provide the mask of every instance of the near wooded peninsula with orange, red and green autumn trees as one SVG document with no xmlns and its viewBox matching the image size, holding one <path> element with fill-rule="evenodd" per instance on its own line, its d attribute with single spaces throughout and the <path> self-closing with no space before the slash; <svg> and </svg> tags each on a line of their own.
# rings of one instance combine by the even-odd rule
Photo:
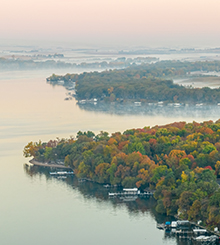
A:
<svg viewBox="0 0 220 245">
<path fill-rule="evenodd" d="M 154 192 L 156 211 L 220 228 L 220 120 L 29 142 L 24 156 L 63 162 L 78 178 Z"/>
</svg>

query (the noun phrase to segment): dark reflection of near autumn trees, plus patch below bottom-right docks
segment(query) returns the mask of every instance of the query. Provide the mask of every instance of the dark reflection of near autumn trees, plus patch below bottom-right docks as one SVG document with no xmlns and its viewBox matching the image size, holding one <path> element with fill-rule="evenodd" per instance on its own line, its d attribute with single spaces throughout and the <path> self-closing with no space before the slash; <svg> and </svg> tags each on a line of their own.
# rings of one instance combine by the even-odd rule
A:
<svg viewBox="0 0 220 245">
<path fill-rule="evenodd" d="M 56 181 L 57 183 L 64 184 L 68 189 L 72 189 L 73 192 L 77 192 L 82 196 L 85 201 L 95 200 L 96 202 L 109 203 L 114 207 L 114 209 L 120 209 L 121 207 L 126 207 L 128 213 L 132 217 L 144 216 L 143 214 L 150 214 L 152 219 L 157 223 L 164 223 L 166 221 L 174 220 L 173 217 L 160 215 L 155 211 L 156 201 L 153 197 L 137 198 L 131 201 L 123 201 L 119 198 L 109 198 L 109 189 L 105 188 L 103 185 L 93 183 L 93 182 L 82 182 L 73 176 L 66 176 L 66 178 L 57 178 L 50 175 L 51 169 L 48 167 L 34 166 L 29 164 L 24 164 L 24 173 L 28 178 L 46 178 L 47 182 Z M 54 171 L 54 169 L 53 169 Z M 59 169 L 59 171 L 62 171 Z M 117 191 L 114 189 L 114 191 Z M 164 232 L 164 231 L 161 231 Z M 174 234 L 169 232 L 164 232 L 162 238 L 163 244 L 178 244 L 178 245 L 188 245 L 193 244 L 190 239 L 178 238 Z"/>
</svg>

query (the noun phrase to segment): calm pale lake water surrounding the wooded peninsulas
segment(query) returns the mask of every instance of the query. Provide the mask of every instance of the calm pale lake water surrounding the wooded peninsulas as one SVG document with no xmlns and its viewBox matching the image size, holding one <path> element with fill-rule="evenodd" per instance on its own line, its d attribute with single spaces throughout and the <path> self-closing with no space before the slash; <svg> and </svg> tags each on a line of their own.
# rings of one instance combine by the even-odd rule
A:
<svg viewBox="0 0 220 245">
<path fill-rule="evenodd" d="M 63 87 L 46 84 L 51 73 L 0 74 L 0 244 L 185 244 L 156 229 L 166 218 L 155 213 L 153 199 L 109 200 L 99 185 L 50 178 L 45 169 L 24 167 L 23 147 L 79 130 L 124 131 L 219 115 L 91 111 L 65 101 Z"/>
</svg>

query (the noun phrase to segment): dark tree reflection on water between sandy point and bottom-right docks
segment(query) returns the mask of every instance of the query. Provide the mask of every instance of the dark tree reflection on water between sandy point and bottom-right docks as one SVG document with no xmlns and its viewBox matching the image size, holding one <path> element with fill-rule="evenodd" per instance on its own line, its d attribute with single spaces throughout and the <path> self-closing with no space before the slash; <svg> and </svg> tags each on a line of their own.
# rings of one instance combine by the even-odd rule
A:
<svg viewBox="0 0 220 245">
<path fill-rule="evenodd" d="M 47 181 L 58 181 L 65 183 L 68 187 L 72 188 L 73 191 L 78 191 L 86 200 L 95 199 L 98 202 L 109 202 L 114 208 L 121 207 L 122 205 L 127 208 L 129 214 L 139 215 L 145 212 L 151 214 L 157 223 L 163 223 L 167 220 L 172 220 L 172 217 L 160 215 L 155 211 L 156 201 L 153 197 L 136 198 L 133 200 L 123 200 L 120 198 L 109 198 L 109 188 L 105 188 L 101 184 L 94 182 L 84 181 L 81 182 L 78 178 L 73 176 L 66 176 L 66 178 L 58 178 L 50 175 L 51 169 L 42 166 L 34 166 L 24 164 L 24 172 L 29 178 L 45 177 Z M 53 170 L 54 171 L 54 170 Z M 59 171 L 62 171 L 59 169 Z M 65 170 L 66 171 L 66 170 Z M 114 188 L 117 191 L 117 188 Z"/>
</svg>

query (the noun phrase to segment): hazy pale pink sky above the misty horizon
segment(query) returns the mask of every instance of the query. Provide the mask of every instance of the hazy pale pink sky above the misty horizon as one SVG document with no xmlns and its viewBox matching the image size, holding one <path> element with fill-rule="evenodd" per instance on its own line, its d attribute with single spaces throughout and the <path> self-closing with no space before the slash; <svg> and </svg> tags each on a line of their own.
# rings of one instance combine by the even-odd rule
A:
<svg viewBox="0 0 220 245">
<path fill-rule="evenodd" d="M 220 46 L 220 0 L 1 0 L 0 40 Z"/>
</svg>

